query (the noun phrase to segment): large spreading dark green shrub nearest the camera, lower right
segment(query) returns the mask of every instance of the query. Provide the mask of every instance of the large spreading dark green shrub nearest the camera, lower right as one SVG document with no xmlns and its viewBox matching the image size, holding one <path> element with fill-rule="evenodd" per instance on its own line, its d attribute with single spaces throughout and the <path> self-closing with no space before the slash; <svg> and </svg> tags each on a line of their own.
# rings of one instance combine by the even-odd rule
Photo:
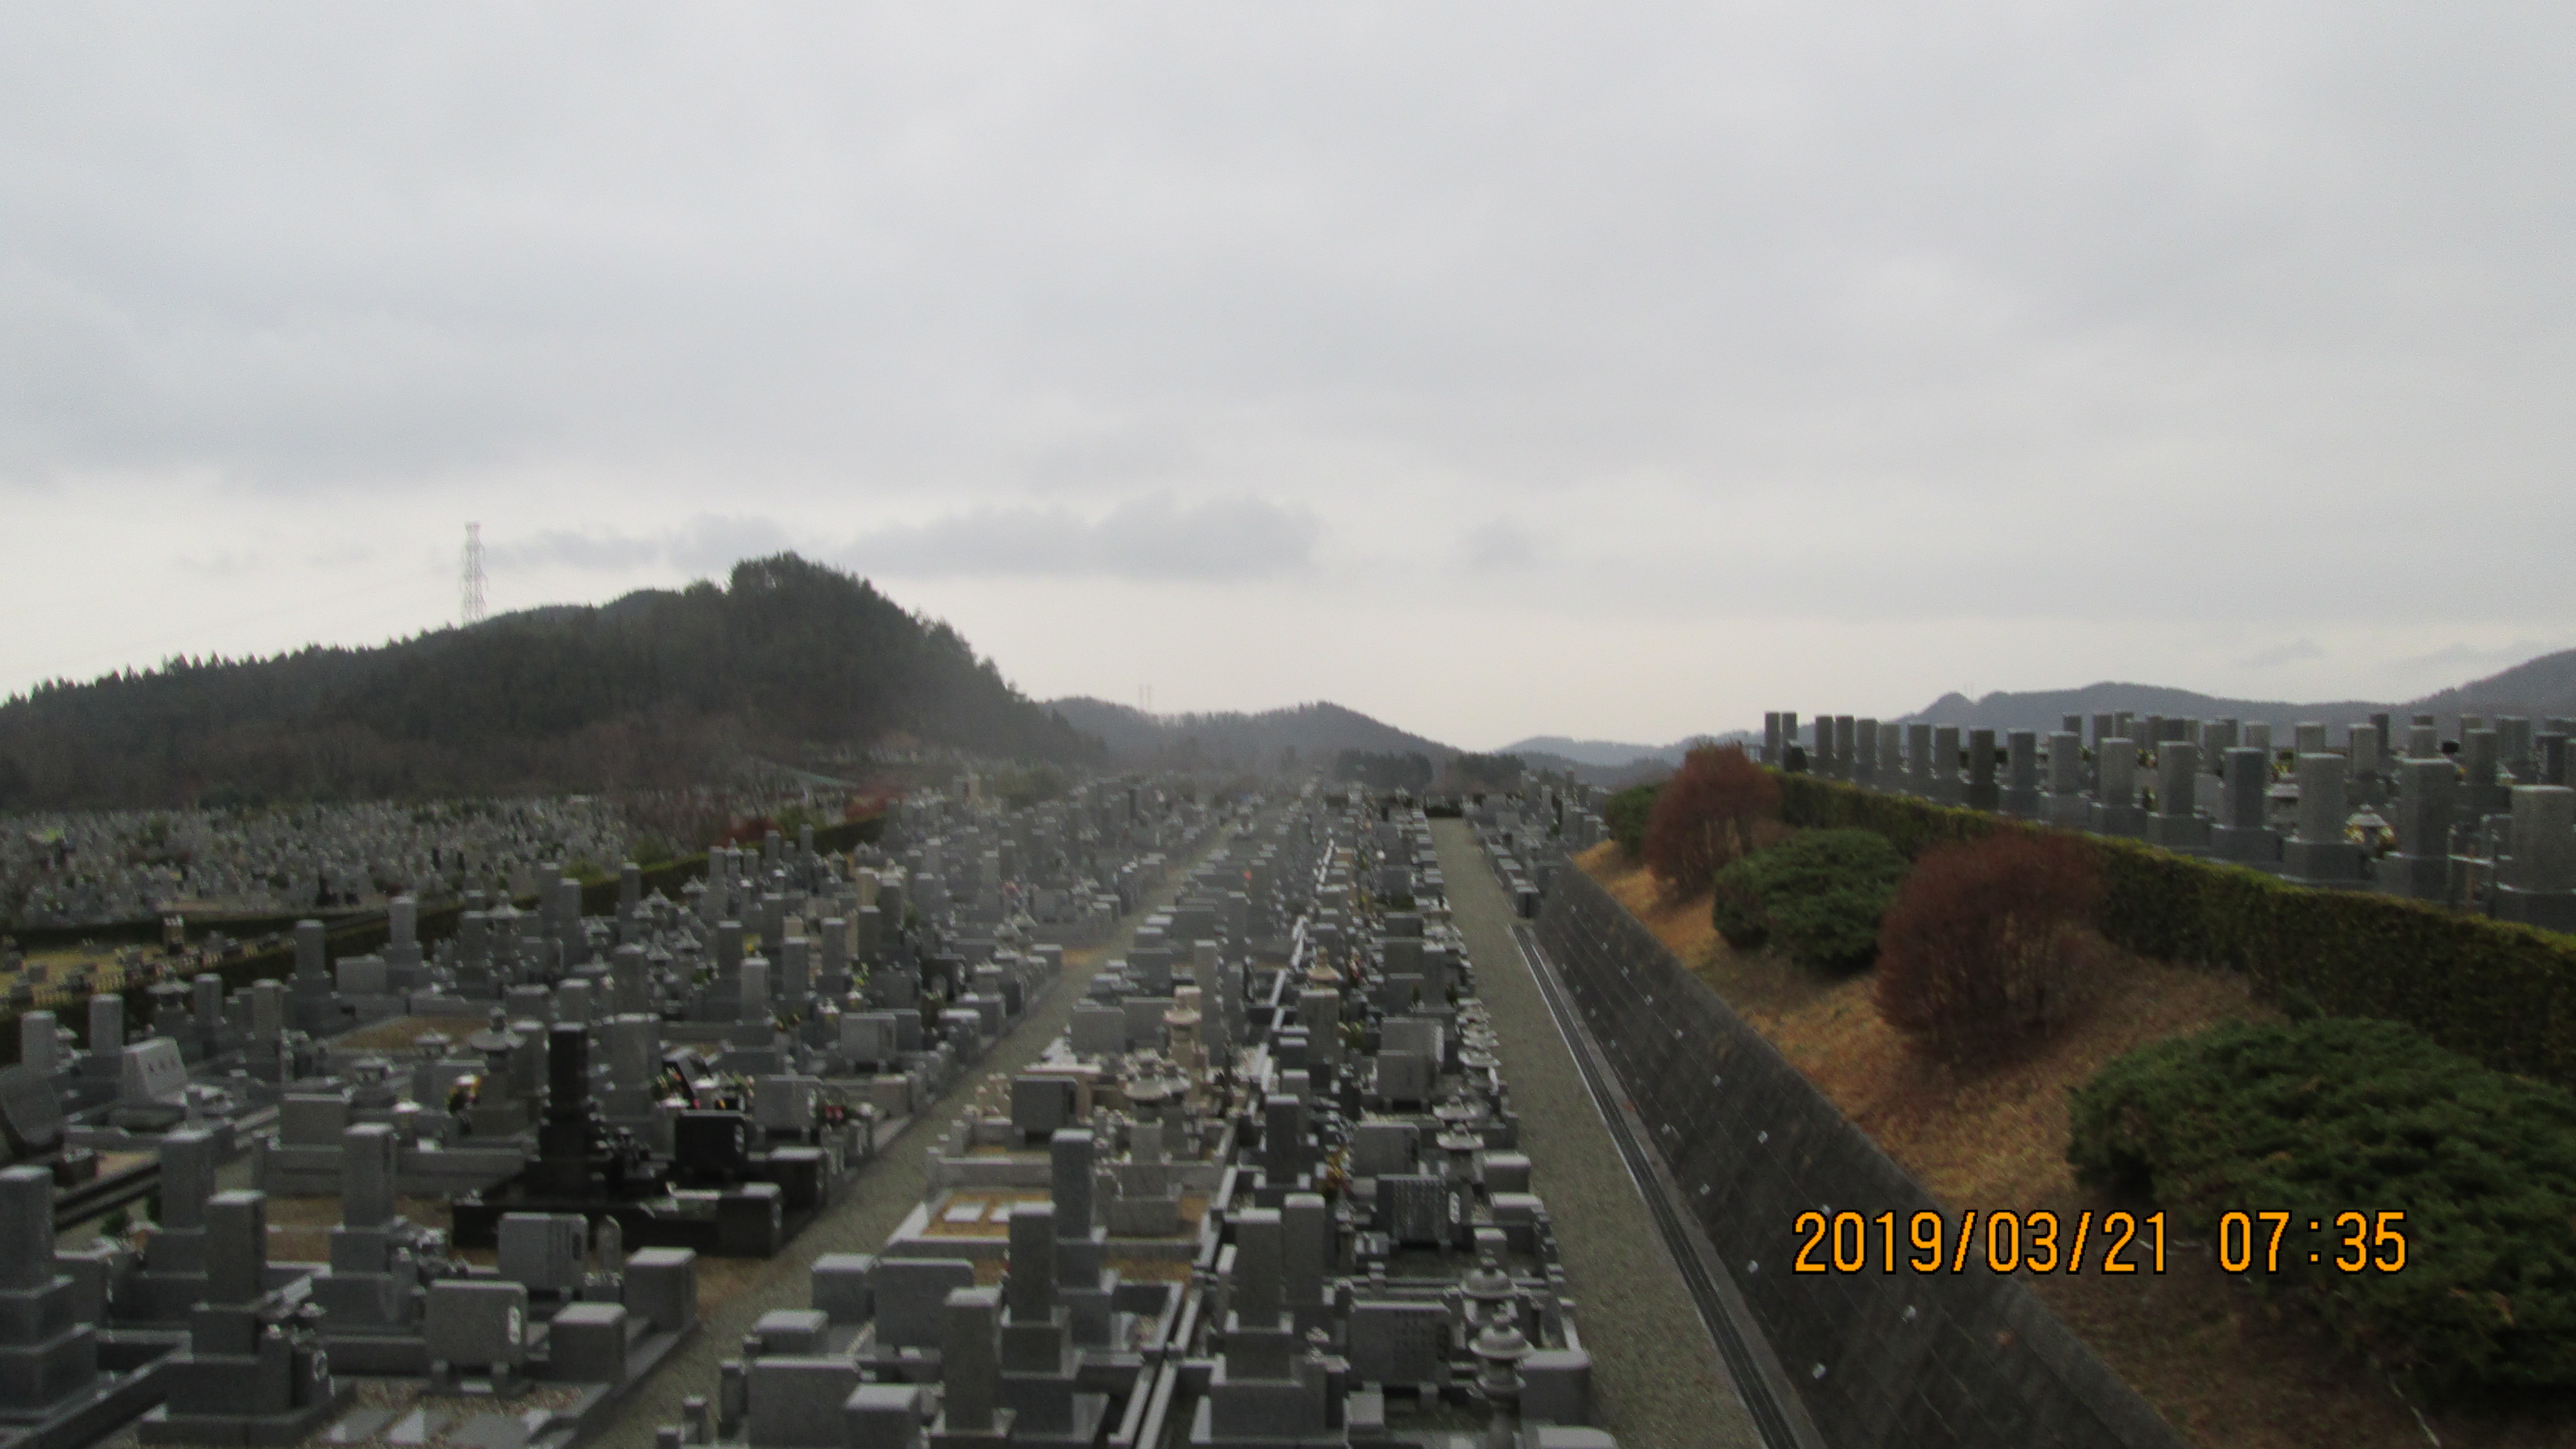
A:
<svg viewBox="0 0 2576 1449">
<path fill-rule="evenodd" d="M 2161 1042 L 2069 1106 L 2076 1176 L 2148 1191 L 2179 1240 L 2215 1240 L 2223 1212 L 2287 1212 L 2277 1271 L 2254 1225 L 2249 1276 L 2388 1369 L 2437 1392 L 2576 1387 L 2568 1091 L 2393 1021 L 2324 1018 Z M 2336 1271 L 2342 1212 L 2403 1212 L 2403 1269 Z"/>
</svg>

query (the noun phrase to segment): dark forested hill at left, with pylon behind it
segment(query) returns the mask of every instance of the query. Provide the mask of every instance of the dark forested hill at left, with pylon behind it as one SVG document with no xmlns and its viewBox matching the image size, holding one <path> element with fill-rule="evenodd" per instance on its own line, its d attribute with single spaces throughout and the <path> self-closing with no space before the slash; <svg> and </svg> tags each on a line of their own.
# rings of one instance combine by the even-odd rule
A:
<svg viewBox="0 0 2576 1449">
<path fill-rule="evenodd" d="M 44 686 L 0 704 L 0 810 L 662 789 L 742 753 L 886 740 L 1105 755 L 948 624 L 778 554 L 724 588 Z"/>
</svg>

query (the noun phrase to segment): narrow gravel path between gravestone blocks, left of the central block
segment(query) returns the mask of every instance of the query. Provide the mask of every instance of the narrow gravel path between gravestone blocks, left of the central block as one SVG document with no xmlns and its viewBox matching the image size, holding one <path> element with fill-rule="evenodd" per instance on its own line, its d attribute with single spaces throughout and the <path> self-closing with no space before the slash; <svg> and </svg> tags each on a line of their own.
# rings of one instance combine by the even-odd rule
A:
<svg viewBox="0 0 2576 1449">
<path fill-rule="evenodd" d="M 1218 838 L 1211 838 L 1213 848 Z M 724 1299 L 716 1312 L 698 1323 L 698 1336 L 690 1338 L 680 1351 L 654 1369 L 652 1382 L 634 1390 L 634 1397 L 618 1405 L 616 1418 L 600 1428 L 598 1436 L 585 1441 L 585 1449 L 652 1449 L 654 1426 L 680 1423 L 680 1400 L 688 1395 L 716 1397 L 716 1364 L 721 1359 L 734 1359 L 742 1354 L 742 1336 L 760 1323 L 760 1315 L 773 1307 L 806 1307 L 809 1279 L 814 1258 L 824 1253 L 876 1253 L 886 1245 L 886 1235 L 904 1222 L 927 1189 L 927 1173 L 922 1173 L 922 1158 L 930 1145 L 948 1134 L 956 1119 L 974 1101 L 974 1085 L 992 1073 L 1018 1073 L 1028 1062 L 1038 1060 L 1038 1052 L 1064 1031 L 1066 1018 L 1074 1013 L 1074 1003 L 1082 1000 L 1084 987 L 1090 987 L 1092 975 L 1100 962 L 1126 951 L 1128 941 L 1136 938 L 1136 928 L 1146 915 L 1162 910 L 1180 895 L 1182 879 L 1198 866 L 1198 856 L 1170 869 L 1170 879 L 1151 895 L 1151 900 L 1128 913 L 1126 923 L 1110 933 L 1110 938 L 1090 951 L 1090 964 L 1064 964 L 1064 977 L 1056 987 L 1020 1018 L 1007 1036 L 1002 1036 L 994 1049 L 951 1083 L 948 1093 L 940 1096 L 912 1127 L 886 1150 L 876 1163 L 860 1173 L 850 1201 L 837 1207 L 832 1214 L 822 1217 L 811 1227 L 788 1243 L 786 1253 L 752 1266 L 752 1281 L 739 1294 Z M 708 1263 L 698 1263 L 708 1271 Z"/>
</svg>

